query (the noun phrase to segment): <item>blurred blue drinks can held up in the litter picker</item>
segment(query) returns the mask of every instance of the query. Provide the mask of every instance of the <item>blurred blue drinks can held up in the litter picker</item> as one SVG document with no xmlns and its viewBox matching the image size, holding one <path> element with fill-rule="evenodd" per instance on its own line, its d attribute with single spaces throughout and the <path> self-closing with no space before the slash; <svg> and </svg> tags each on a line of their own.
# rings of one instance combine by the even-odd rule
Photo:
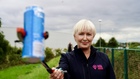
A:
<svg viewBox="0 0 140 79">
<path fill-rule="evenodd" d="M 30 6 L 24 12 L 24 30 L 22 58 L 26 62 L 36 63 L 44 60 L 44 12 L 41 7 Z"/>
</svg>

